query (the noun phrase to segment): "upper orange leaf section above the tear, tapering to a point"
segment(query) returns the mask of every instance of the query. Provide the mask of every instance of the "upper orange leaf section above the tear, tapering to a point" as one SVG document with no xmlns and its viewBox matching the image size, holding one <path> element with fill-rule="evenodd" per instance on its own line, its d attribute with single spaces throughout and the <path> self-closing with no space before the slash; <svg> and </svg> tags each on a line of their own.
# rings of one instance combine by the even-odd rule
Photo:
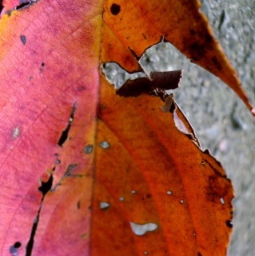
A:
<svg viewBox="0 0 255 256">
<path fill-rule="evenodd" d="M 192 62 L 221 78 L 252 110 L 200 7 L 198 0 L 106 0 L 102 62 L 118 62 L 129 72 L 141 70 L 133 56 L 140 58 L 149 46 L 164 38 Z"/>
</svg>

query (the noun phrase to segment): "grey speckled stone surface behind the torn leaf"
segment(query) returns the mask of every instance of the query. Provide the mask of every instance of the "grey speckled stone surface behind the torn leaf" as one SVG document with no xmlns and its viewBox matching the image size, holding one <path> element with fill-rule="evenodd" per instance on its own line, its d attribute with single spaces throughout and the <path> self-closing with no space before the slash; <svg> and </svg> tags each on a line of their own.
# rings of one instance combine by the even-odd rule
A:
<svg viewBox="0 0 255 256">
<path fill-rule="evenodd" d="M 255 104 L 255 1 L 203 0 L 201 11 Z M 146 71 L 184 70 L 181 88 L 175 92 L 177 103 L 203 149 L 211 151 L 233 181 L 236 198 L 228 255 L 254 256 L 255 126 L 251 114 L 223 82 L 189 62 L 169 43 L 147 50 L 141 62 Z M 108 70 L 119 85 L 128 77 L 116 66 Z"/>
</svg>

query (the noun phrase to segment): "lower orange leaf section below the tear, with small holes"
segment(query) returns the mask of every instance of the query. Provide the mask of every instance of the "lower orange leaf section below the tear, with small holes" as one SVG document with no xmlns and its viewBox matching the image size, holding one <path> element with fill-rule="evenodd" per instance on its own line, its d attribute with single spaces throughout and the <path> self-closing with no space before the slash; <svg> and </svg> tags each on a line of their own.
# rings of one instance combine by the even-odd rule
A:
<svg viewBox="0 0 255 256">
<path fill-rule="evenodd" d="M 146 94 L 116 97 L 102 78 L 92 255 L 226 253 L 231 182 L 219 162 L 177 129 L 175 121 L 187 123 L 181 111 L 163 113 L 161 105 Z M 148 223 L 152 230 L 133 232 Z"/>
</svg>

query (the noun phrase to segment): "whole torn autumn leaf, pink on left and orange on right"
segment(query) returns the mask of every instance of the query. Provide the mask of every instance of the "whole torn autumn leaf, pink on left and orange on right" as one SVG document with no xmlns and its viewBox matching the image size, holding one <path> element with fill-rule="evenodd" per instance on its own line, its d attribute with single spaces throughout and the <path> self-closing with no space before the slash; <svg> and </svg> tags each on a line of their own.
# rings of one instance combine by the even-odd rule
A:
<svg viewBox="0 0 255 256">
<path fill-rule="evenodd" d="M 8 4 L 0 23 L 1 254 L 224 255 L 231 182 L 172 96 L 159 97 L 165 82 L 152 74 L 131 82 L 138 95 L 122 89 L 137 98 L 123 98 L 99 71 L 112 61 L 141 70 L 137 59 L 164 36 L 251 109 L 199 4 L 105 1 L 103 19 L 102 1 Z"/>
</svg>

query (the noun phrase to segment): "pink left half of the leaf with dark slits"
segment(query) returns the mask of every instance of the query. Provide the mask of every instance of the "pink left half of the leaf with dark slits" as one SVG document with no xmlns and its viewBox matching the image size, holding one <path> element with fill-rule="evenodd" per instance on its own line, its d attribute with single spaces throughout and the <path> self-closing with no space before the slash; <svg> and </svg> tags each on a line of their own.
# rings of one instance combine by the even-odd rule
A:
<svg viewBox="0 0 255 256">
<path fill-rule="evenodd" d="M 92 0 L 38 1 L 1 18 L 1 255 L 29 255 L 33 242 L 32 255 L 89 254 L 94 156 L 84 148 L 94 145 L 101 26 Z"/>
</svg>

